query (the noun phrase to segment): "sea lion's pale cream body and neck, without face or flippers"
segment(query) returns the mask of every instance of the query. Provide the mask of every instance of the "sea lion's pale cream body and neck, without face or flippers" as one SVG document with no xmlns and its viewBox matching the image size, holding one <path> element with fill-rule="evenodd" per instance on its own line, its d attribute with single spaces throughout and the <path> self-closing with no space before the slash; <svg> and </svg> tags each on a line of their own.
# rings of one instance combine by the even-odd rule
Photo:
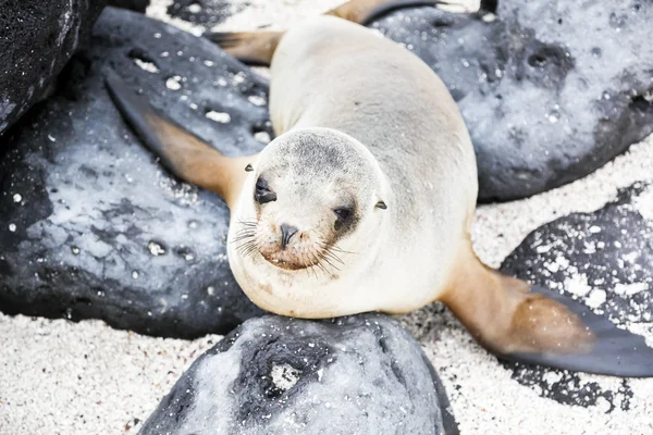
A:
<svg viewBox="0 0 653 435">
<path fill-rule="evenodd" d="M 433 71 L 361 26 L 316 17 L 276 48 L 270 114 L 276 135 L 325 127 L 365 145 L 392 186 L 389 219 L 355 246 L 345 241 L 355 252 L 345 254 L 345 273 L 322 282 L 241 256 L 230 244 L 230 264 L 247 295 L 264 309 L 305 318 L 403 313 L 438 299 L 458 252 L 468 249 L 478 185 L 469 135 Z M 247 216 L 250 202 L 243 196 L 232 220 Z M 232 223 L 230 238 L 237 227 Z"/>
</svg>

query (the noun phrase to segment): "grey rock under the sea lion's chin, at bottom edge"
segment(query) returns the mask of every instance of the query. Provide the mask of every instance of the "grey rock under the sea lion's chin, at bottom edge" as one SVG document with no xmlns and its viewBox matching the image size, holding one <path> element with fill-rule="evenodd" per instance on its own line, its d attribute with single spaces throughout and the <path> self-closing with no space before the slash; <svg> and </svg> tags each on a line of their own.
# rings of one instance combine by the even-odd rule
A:
<svg viewBox="0 0 653 435">
<path fill-rule="evenodd" d="M 384 315 L 247 321 L 177 381 L 147 434 L 456 434 L 420 345 Z"/>
</svg>

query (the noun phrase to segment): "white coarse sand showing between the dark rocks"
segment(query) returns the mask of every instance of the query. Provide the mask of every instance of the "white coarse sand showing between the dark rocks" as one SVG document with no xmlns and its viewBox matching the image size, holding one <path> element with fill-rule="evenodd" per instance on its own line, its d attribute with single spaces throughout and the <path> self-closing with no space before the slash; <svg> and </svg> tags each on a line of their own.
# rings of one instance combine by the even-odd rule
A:
<svg viewBox="0 0 653 435">
<path fill-rule="evenodd" d="M 220 29 L 282 27 L 341 3 L 250 2 L 251 8 Z M 167 3 L 155 0 L 148 13 L 167 20 Z M 172 24 L 199 32 L 185 23 Z M 497 266 L 532 229 L 570 212 L 601 208 L 618 187 L 653 179 L 652 166 L 650 137 L 584 179 L 526 200 L 480 207 L 476 249 L 483 261 Z M 653 219 L 653 203 L 641 207 Z M 630 381 L 634 398 L 628 412 L 606 414 L 608 403 L 601 401 L 590 408 L 562 406 L 513 381 L 512 372 L 473 344 L 438 306 L 403 321 L 440 371 L 463 435 L 653 434 L 653 380 Z M 71 323 L 2 314 L 0 337 L 1 435 L 134 434 L 190 362 L 220 339 L 161 339 L 115 331 L 99 321 Z M 619 383 L 590 375 L 581 380 L 608 389 L 617 389 Z"/>
</svg>

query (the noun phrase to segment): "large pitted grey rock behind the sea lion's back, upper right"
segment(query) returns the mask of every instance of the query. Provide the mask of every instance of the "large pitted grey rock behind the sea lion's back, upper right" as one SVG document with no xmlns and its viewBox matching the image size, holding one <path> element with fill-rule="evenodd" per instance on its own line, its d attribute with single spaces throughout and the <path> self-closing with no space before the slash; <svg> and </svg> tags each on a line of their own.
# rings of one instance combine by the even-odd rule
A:
<svg viewBox="0 0 653 435">
<path fill-rule="evenodd" d="M 458 102 L 481 201 L 580 178 L 653 132 L 653 2 L 502 0 L 496 14 L 405 9 L 371 25 Z"/>
</svg>

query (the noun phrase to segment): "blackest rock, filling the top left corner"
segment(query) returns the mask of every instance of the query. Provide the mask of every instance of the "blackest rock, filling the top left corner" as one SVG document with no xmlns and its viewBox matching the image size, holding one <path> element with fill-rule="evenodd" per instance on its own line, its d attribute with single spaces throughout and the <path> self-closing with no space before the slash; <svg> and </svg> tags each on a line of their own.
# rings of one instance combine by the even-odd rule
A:
<svg viewBox="0 0 653 435">
<path fill-rule="evenodd" d="M 0 136 L 45 97 L 102 7 L 88 0 L 2 1 Z"/>
</svg>

